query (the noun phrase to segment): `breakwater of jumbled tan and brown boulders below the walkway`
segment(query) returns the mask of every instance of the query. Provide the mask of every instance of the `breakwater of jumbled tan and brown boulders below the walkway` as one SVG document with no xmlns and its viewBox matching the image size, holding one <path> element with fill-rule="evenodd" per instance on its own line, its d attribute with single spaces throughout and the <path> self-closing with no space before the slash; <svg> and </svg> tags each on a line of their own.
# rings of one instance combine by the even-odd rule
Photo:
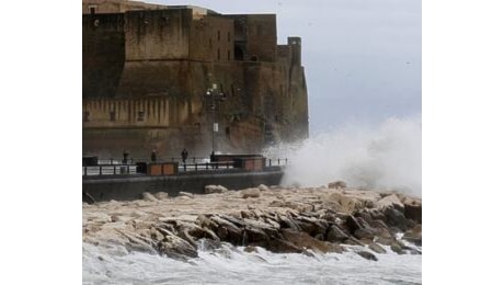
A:
<svg viewBox="0 0 504 285">
<path fill-rule="evenodd" d="M 144 193 L 144 200 L 83 204 L 83 242 L 119 244 L 169 258 L 196 258 L 221 242 L 277 253 L 342 253 L 378 260 L 386 248 L 421 254 L 422 201 L 400 193 L 329 187 L 267 187 L 208 194 Z M 398 238 L 401 237 L 402 238 Z M 354 247 L 360 246 L 360 247 Z M 357 248 L 357 250 L 355 250 Z"/>
</svg>

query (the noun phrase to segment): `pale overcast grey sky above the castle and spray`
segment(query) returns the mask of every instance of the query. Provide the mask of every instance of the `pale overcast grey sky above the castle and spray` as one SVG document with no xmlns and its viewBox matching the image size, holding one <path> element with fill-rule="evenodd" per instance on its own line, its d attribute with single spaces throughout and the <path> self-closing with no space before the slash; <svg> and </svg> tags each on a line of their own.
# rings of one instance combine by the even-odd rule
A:
<svg viewBox="0 0 504 285">
<path fill-rule="evenodd" d="M 421 114 L 420 0 L 144 0 L 276 13 L 278 44 L 302 38 L 310 133 Z"/>
</svg>

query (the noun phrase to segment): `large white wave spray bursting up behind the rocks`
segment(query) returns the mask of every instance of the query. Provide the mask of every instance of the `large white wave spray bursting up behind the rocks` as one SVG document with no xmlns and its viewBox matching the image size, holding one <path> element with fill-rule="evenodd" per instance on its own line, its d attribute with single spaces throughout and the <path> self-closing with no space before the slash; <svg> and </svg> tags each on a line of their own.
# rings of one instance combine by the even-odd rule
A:
<svg viewBox="0 0 504 285">
<path fill-rule="evenodd" d="M 284 185 L 348 186 L 422 195 L 421 116 L 391 117 L 370 126 L 348 123 L 298 144 L 280 144 L 267 157 L 288 158 Z"/>
</svg>

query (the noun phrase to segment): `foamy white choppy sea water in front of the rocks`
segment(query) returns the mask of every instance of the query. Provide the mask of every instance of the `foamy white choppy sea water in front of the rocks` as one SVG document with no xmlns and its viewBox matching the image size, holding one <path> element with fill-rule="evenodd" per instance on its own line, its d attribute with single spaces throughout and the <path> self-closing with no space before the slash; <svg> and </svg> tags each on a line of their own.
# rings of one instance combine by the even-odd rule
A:
<svg viewBox="0 0 504 285">
<path fill-rule="evenodd" d="M 421 284 L 422 255 L 399 255 L 387 248 L 368 261 L 347 252 L 272 253 L 222 244 L 199 249 L 198 258 L 177 261 L 128 252 L 122 246 L 82 244 L 82 284 Z"/>
</svg>

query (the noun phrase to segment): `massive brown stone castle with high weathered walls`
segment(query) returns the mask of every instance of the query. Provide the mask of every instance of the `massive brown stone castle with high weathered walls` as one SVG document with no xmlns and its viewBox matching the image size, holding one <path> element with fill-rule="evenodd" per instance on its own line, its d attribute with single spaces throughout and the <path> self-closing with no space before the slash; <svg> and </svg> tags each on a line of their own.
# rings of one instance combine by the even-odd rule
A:
<svg viewBox="0 0 504 285">
<path fill-rule="evenodd" d="M 257 152 L 308 137 L 301 39 L 275 14 L 82 1 L 83 155 Z"/>
</svg>

